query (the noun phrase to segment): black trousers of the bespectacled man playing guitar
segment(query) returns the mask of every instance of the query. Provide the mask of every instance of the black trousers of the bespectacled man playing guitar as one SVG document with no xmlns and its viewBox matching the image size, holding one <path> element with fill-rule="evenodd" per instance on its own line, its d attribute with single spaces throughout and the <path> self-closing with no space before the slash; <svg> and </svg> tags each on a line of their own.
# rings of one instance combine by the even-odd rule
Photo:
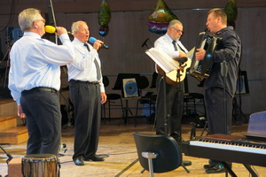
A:
<svg viewBox="0 0 266 177">
<path fill-rule="evenodd" d="M 157 104 L 156 104 L 156 135 L 168 135 L 180 141 L 181 137 L 181 120 L 184 109 L 184 82 L 181 81 L 177 85 L 166 83 L 166 108 L 168 114 L 169 131 L 166 132 L 165 114 L 164 114 L 164 79 L 158 75 L 157 81 Z M 167 129 L 168 129 L 167 127 Z"/>
</svg>

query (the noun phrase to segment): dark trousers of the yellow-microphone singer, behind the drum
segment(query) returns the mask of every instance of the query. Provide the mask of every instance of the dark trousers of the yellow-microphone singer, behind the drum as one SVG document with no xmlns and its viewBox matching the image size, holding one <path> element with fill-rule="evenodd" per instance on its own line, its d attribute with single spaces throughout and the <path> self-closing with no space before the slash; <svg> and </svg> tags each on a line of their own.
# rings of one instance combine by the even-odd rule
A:
<svg viewBox="0 0 266 177">
<path fill-rule="evenodd" d="M 61 112 L 59 94 L 55 91 L 31 89 L 23 91 L 20 104 L 27 117 L 27 155 L 59 152 Z"/>
</svg>

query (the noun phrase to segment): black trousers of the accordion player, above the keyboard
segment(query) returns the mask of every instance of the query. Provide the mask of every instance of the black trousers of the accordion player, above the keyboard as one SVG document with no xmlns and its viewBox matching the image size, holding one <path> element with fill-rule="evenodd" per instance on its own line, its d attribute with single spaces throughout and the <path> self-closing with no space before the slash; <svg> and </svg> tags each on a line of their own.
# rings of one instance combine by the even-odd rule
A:
<svg viewBox="0 0 266 177">
<path fill-rule="evenodd" d="M 225 92 L 226 110 L 224 109 L 223 98 L 223 88 L 210 88 L 205 90 L 205 104 L 209 135 L 231 135 L 232 96 L 227 91 Z M 225 115 L 227 115 L 226 125 Z"/>
</svg>

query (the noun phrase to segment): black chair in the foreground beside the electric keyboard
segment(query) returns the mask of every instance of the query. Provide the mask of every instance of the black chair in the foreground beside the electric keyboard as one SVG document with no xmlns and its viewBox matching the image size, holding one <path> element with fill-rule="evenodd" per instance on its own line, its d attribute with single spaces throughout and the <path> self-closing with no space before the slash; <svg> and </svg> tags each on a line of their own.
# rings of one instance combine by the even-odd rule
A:
<svg viewBox="0 0 266 177">
<path fill-rule="evenodd" d="M 182 154 L 174 138 L 168 135 L 134 133 L 140 165 L 153 173 L 165 173 L 182 165 Z"/>
</svg>

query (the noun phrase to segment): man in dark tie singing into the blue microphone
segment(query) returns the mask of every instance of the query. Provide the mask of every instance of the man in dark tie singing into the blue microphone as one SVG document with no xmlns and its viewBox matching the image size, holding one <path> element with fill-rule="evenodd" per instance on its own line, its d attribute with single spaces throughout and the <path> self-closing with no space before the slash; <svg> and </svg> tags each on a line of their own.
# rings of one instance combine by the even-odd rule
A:
<svg viewBox="0 0 266 177">
<path fill-rule="evenodd" d="M 75 165 L 85 161 L 104 161 L 96 155 L 101 119 L 101 104 L 106 93 L 100 71 L 98 50 L 103 42 L 88 42 L 90 30 L 84 21 L 72 25 L 74 34 L 74 62 L 67 65 L 70 98 L 74 104 L 74 155 Z"/>
</svg>

